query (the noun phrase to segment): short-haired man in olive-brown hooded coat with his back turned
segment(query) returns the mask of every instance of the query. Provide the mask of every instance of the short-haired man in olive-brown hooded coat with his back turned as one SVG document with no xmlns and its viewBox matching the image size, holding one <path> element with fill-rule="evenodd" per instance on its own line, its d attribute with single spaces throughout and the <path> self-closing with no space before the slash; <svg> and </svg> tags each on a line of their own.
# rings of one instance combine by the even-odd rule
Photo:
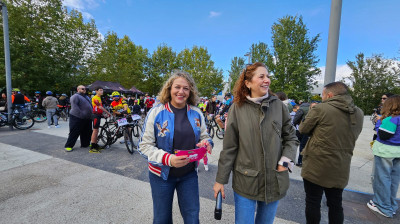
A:
<svg viewBox="0 0 400 224">
<path fill-rule="evenodd" d="M 320 222 L 324 192 L 329 223 L 343 223 L 342 193 L 349 181 L 351 157 L 363 117 L 363 111 L 354 106 L 348 87 L 333 82 L 324 87 L 322 103 L 310 109 L 300 124 L 300 133 L 310 136 L 302 152 L 301 171 L 308 224 Z"/>
</svg>

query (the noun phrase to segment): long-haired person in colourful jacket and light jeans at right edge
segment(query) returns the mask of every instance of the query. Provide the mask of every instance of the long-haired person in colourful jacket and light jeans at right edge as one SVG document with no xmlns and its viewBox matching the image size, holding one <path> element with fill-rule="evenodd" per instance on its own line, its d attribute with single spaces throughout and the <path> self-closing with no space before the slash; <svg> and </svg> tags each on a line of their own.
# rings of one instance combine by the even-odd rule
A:
<svg viewBox="0 0 400 224">
<path fill-rule="evenodd" d="M 376 123 L 377 139 L 373 144 L 374 197 L 368 208 L 391 218 L 396 214 L 396 194 L 400 181 L 400 96 L 389 97 L 382 106 L 382 117 Z"/>
</svg>

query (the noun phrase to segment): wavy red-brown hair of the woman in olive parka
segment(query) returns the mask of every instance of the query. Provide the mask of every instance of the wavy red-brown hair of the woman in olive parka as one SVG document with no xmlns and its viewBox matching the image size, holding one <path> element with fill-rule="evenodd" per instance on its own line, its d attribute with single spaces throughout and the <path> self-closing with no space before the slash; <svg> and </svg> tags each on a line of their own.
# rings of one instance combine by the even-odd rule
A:
<svg viewBox="0 0 400 224">
<path fill-rule="evenodd" d="M 248 65 L 245 69 L 243 69 L 242 73 L 239 76 L 239 79 L 236 81 L 235 87 L 233 89 L 233 95 L 234 95 L 233 102 L 236 103 L 237 105 L 239 106 L 243 105 L 243 103 L 246 100 L 246 96 L 251 94 L 250 90 L 246 87 L 245 80 L 250 82 L 254 76 L 254 71 L 258 67 L 264 67 L 267 69 L 267 66 L 265 66 L 263 63 L 255 62 L 254 64 Z M 271 89 L 268 89 L 268 94 L 269 95 L 273 94 Z"/>
</svg>

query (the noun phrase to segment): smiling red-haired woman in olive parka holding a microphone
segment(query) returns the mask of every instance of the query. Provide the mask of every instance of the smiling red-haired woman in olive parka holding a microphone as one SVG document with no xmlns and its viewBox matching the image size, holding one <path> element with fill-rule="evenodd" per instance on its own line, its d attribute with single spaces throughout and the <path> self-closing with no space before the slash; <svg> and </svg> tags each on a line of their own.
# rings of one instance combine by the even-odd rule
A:
<svg viewBox="0 0 400 224">
<path fill-rule="evenodd" d="M 298 141 L 288 109 L 270 84 L 260 62 L 247 66 L 235 84 L 214 196 L 221 192 L 225 198 L 232 171 L 236 223 L 273 223 L 289 188 Z"/>
</svg>

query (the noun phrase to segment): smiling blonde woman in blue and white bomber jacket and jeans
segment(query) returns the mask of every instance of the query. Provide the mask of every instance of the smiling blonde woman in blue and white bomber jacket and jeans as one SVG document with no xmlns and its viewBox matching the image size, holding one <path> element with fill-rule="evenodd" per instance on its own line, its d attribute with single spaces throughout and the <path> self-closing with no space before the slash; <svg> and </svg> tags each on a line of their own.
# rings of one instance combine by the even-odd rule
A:
<svg viewBox="0 0 400 224">
<path fill-rule="evenodd" d="M 211 153 L 213 147 L 203 113 L 193 106 L 198 102 L 193 78 L 183 71 L 173 72 L 158 100 L 147 114 L 138 149 L 149 162 L 153 223 L 172 223 L 175 190 L 183 221 L 199 223 L 198 161 L 174 155 L 175 150 L 197 147 L 207 147 Z"/>
</svg>

